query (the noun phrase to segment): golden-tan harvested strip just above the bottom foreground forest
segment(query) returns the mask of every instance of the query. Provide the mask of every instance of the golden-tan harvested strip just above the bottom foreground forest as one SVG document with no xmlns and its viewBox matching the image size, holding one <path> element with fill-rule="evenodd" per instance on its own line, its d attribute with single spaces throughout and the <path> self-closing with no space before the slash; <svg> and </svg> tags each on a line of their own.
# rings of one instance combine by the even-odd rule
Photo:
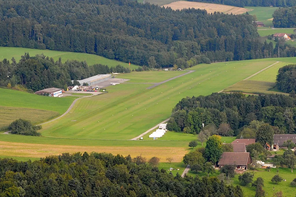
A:
<svg viewBox="0 0 296 197">
<path fill-rule="evenodd" d="M 3 134 L 2 134 L 3 135 Z M 185 147 L 110 147 L 110 146 L 69 146 L 50 144 L 27 144 L 12 143 L 0 141 L 0 152 L 2 156 L 21 156 L 21 157 L 46 157 L 49 155 L 59 155 L 65 152 L 106 152 L 114 155 L 121 154 L 123 156 L 136 157 L 142 155 L 146 159 L 151 157 L 159 157 L 160 162 L 165 162 L 167 157 L 172 157 L 174 162 L 181 162 L 184 154 L 189 150 Z"/>
</svg>

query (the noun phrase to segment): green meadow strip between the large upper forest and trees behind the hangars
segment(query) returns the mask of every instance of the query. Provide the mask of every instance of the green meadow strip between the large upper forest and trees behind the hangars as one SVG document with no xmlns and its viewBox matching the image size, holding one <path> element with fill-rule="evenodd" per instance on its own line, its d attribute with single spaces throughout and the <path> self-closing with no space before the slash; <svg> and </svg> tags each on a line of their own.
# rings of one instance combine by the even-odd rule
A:
<svg viewBox="0 0 296 197">
<path fill-rule="evenodd" d="M 54 58 L 55 61 L 62 58 L 62 62 L 69 60 L 78 60 L 78 61 L 86 61 L 89 66 L 94 64 L 104 64 L 111 66 L 116 66 L 118 64 L 128 67 L 128 63 L 124 63 L 121 61 L 111 60 L 104 58 L 102 56 L 97 56 L 93 54 L 87 53 L 73 53 L 73 52 L 65 52 L 65 51 L 50 51 L 50 50 L 40 50 L 40 49 L 30 49 L 30 48 L 18 48 L 18 47 L 0 47 L 0 60 L 4 58 L 11 61 L 11 58 L 14 57 L 18 62 L 25 53 L 29 53 L 30 56 L 35 56 L 36 54 L 43 53 L 45 56 L 49 56 Z M 130 69 L 136 69 L 139 66 L 131 64 Z"/>
</svg>

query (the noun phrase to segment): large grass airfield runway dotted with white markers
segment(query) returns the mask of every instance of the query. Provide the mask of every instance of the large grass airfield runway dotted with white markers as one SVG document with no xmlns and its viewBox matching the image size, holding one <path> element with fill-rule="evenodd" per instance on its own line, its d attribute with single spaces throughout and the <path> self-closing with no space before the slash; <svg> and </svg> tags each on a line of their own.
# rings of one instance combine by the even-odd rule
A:
<svg viewBox="0 0 296 197">
<path fill-rule="evenodd" d="M 146 89 L 150 84 L 112 86 L 108 94 L 78 100 L 71 114 L 43 125 L 41 133 L 49 137 L 131 139 L 167 119 L 182 98 L 220 91 L 272 63 L 200 64 L 190 68 L 195 72 L 153 89 Z"/>
</svg>

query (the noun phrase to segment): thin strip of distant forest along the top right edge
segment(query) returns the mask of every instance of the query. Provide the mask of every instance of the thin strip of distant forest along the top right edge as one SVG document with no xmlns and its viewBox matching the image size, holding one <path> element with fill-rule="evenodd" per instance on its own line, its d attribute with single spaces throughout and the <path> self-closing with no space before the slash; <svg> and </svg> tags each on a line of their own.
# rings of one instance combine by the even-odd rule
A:
<svg viewBox="0 0 296 197">
<path fill-rule="evenodd" d="M 253 7 L 286 7 L 295 6 L 295 0 L 189 0 L 195 2 L 205 2 L 214 4 L 224 4 L 237 7 L 253 6 Z"/>
</svg>

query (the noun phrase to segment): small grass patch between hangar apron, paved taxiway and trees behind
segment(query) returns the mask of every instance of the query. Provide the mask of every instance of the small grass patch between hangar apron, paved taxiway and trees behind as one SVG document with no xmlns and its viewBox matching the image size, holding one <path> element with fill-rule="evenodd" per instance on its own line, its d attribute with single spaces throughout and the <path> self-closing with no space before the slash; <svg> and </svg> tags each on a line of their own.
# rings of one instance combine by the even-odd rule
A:
<svg viewBox="0 0 296 197">
<path fill-rule="evenodd" d="M 186 71 L 141 71 L 120 73 L 118 78 L 130 79 L 127 83 L 157 83 L 184 74 Z"/>
</svg>

